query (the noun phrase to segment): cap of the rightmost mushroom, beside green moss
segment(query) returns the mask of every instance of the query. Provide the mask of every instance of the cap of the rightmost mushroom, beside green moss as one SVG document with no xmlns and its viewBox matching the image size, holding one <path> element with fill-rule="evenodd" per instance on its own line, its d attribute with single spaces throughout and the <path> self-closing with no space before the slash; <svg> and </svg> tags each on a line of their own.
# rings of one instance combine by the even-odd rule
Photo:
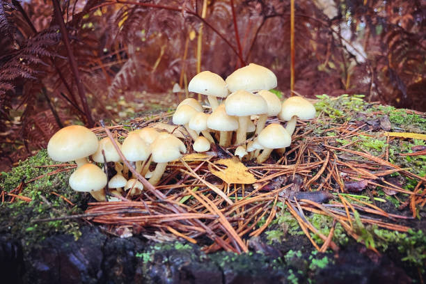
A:
<svg viewBox="0 0 426 284">
<path fill-rule="evenodd" d="M 315 118 L 315 107 L 303 97 L 289 97 L 283 102 L 283 107 L 278 113 L 278 117 L 289 121 L 292 116 L 297 116 L 300 119 Z"/>
</svg>

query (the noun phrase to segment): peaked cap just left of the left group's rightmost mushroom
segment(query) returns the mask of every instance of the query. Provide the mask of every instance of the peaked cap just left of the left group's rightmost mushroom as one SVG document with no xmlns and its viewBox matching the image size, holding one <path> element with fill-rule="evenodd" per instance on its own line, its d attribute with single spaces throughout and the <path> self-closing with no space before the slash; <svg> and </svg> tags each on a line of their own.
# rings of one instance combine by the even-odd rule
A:
<svg viewBox="0 0 426 284">
<path fill-rule="evenodd" d="M 128 161 L 145 161 L 151 153 L 137 132 L 129 132 L 121 145 L 121 152 Z"/>
</svg>

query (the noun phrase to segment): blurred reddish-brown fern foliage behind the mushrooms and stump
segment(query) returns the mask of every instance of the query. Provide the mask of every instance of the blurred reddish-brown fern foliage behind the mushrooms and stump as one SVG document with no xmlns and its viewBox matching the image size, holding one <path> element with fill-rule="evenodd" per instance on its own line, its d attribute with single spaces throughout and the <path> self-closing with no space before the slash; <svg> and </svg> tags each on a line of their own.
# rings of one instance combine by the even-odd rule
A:
<svg viewBox="0 0 426 284">
<path fill-rule="evenodd" d="M 0 0 L 3 168 L 44 147 L 63 125 L 90 125 L 88 116 L 114 122 L 173 108 L 191 95 L 187 83 L 200 70 L 226 78 L 258 63 L 290 95 L 290 0 L 53 1 L 79 82 L 52 1 Z M 294 90 L 364 94 L 425 111 L 425 7 L 420 0 L 296 0 Z"/>
</svg>

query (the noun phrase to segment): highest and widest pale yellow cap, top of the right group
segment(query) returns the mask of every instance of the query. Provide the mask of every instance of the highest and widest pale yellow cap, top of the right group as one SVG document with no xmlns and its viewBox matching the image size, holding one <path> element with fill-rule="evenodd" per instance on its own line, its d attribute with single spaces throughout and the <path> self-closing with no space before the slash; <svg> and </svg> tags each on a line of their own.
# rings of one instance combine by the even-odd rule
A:
<svg viewBox="0 0 426 284">
<path fill-rule="evenodd" d="M 259 90 L 275 88 L 277 80 L 274 72 L 268 68 L 250 63 L 230 74 L 226 78 L 226 84 L 230 92 L 237 90 L 258 92 Z"/>
</svg>

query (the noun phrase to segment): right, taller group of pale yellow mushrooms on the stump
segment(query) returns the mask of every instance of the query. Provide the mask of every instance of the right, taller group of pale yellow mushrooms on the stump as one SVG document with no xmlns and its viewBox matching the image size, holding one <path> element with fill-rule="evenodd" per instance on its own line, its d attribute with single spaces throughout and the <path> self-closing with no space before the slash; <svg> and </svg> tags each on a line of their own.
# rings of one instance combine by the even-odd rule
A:
<svg viewBox="0 0 426 284">
<path fill-rule="evenodd" d="M 240 159 L 262 163 L 273 149 L 283 153 L 290 145 L 297 118 L 315 117 L 313 104 L 303 97 L 281 102 L 269 91 L 276 86 L 274 72 L 254 63 L 239 68 L 226 80 L 210 71 L 200 72 L 191 79 L 188 90 L 207 95 L 212 112 L 204 111 L 198 101 L 186 99 L 178 105 L 173 123 L 184 125 L 196 152 L 210 150 L 210 143 L 217 141 L 223 147 L 235 145 L 231 148 L 236 148 L 235 156 Z M 218 98 L 223 101 L 219 103 Z M 271 116 L 287 121 L 287 126 L 274 123 L 265 127 Z"/>
</svg>

